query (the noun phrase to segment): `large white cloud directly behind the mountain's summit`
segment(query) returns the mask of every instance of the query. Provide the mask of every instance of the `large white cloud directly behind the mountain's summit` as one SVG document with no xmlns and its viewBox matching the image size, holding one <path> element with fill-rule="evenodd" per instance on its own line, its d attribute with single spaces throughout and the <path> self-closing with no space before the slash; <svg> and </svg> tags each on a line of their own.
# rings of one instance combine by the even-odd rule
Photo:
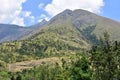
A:
<svg viewBox="0 0 120 80">
<path fill-rule="evenodd" d="M 65 9 L 84 9 L 99 13 L 103 5 L 103 0 L 52 0 L 52 2 L 45 7 L 45 11 L 51 16 Z"/>
</svg>

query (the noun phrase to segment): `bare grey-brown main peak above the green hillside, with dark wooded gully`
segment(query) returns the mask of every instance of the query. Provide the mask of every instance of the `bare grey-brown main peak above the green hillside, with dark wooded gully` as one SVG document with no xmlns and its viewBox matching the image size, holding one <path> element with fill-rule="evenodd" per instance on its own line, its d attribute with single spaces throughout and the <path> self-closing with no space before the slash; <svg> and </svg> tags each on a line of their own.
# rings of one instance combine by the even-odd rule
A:
<svg viewBox="0 0 120 80">
<path fill-rule="evenodd" d="M 84 37 L 95 35 L 97 38 L 99 38 L 105 31 L 107 31 L 112 40 L 120 40 L 119 22 L 81 9 L 74 11 L 63 11 L 50 20 L 49 25 L 51 26 L 53 24 L 71 24 L 73 27 L 79 30 Z"/>
</svg>

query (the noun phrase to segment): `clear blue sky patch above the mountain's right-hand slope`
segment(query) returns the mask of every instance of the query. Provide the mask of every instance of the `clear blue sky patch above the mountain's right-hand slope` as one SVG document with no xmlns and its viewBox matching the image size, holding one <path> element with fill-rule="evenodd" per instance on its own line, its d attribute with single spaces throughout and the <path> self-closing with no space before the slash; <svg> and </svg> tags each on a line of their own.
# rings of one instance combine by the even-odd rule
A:
<svg viewBox="0 0 120 80">
<path fill-rule="evenodd" d="M 104 0 L 100 15 L 120 22 L 120 0 Z"/>
</svg>

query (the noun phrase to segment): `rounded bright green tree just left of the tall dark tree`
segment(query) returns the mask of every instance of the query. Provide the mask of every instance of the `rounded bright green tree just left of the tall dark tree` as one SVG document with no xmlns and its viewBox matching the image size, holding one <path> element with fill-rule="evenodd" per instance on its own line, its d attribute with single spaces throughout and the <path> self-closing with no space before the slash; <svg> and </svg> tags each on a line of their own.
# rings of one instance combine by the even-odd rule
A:
<svg viewBox="0 0 120 80">
<path fill-rule="evenodd" d="M 91 71 L 86 56 L 77 53 L 70 63 L 62 60 L 65 80 L 91 80 Z"/>
</svg>

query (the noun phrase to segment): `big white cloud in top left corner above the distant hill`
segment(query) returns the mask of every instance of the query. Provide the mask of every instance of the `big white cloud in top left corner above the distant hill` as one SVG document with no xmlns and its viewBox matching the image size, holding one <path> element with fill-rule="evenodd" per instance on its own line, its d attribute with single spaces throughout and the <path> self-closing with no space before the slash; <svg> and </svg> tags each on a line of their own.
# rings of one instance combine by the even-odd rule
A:
<svg viewBox="0 0 120 80">
<path fill-rule="evenodd" d="M 0 0 L 0 23 L 24 26 L 25 18 L 34 20 L 30 11 L 23 11 L 22 4 L 26 0 Z"/>
</svg>

